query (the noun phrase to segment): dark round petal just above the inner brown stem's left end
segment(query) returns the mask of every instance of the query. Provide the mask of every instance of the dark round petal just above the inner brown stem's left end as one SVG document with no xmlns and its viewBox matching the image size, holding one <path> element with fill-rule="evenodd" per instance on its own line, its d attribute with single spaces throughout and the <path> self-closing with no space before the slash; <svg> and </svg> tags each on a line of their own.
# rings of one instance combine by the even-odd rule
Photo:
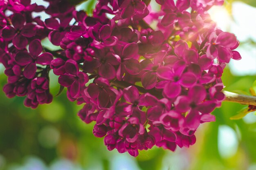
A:
<svg viewBox="0 0 256 170">
<path fill-rule="evenodd" d="M 101 64 L 99 67 L 99 75 L 106 79 L 113 79 L 116 76 L 116 70 L 112 65 L 108 63 Z"/>
</svg>

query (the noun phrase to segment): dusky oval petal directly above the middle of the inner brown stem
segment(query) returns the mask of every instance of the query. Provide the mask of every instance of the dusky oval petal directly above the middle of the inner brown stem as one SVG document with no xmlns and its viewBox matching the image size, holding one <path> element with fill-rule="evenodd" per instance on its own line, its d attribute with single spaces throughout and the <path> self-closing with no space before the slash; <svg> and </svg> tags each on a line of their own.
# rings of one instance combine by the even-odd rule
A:
<svg viewBox="0 0 256 170">
<path fill-rule="evenodd" d="M 142 86 L 146 89 L 154 88 L 157 84 L 157 75 L 153 71 L 144 73 L 141 77 Z"/>
</svg>

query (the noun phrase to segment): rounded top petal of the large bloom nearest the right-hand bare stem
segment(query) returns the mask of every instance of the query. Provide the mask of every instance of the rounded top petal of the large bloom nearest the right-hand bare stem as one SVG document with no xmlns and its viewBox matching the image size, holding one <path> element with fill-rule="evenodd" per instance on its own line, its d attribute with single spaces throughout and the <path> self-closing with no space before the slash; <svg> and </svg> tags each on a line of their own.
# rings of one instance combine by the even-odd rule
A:
<svg viewBox="0 0 256 170">
<path fill-rule="evenodd" d="M 188 97 L 195 103 L 202 102 L 206 97 L 206 90 L 202 85 L 195 85 L 189 89 Z"/>
</svg>

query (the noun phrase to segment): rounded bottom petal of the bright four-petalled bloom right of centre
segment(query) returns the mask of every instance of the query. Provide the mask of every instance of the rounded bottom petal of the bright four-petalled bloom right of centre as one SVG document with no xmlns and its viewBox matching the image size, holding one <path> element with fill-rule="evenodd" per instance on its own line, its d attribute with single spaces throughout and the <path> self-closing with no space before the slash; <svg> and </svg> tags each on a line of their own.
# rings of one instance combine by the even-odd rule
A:
<svg viewBox="0 0 256 170">
<path fill-rule="evenodd" d="M 164 86 L 164 95 L 168 98 L 174 98 L 180 95 L 181 87 L 177 83 L 169 82 Z"/>
</svg>

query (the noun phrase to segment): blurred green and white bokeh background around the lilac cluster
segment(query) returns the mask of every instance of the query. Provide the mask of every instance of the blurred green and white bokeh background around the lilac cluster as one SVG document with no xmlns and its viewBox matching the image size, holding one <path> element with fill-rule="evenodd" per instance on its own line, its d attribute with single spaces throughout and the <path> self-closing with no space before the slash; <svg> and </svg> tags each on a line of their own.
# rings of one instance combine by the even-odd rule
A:
<svg viewBox="0 0 256 170">
<path fill-rule="evenodd" d="M 95 3 L 88 0 L 77 9 L 91 13 Z M 223 7 L 210 10 L 218 26 L 235 33 L 240 41 L 243 59 L 232 61 L 222 76 L 227 91 L 249 94 L 250 87 L 256 89 L 255 7 L 256 0 L 227 0 Z M 56 48 L 47 40 L 44 45 Z M 3 71 L 0 65 L 1 89 L 7 82 Z M 56 95 L 58 80 L 54 74 L 50 77 L 51 92 Z M 230 119 L 246 106 L 223 102 L 213 111 L 216 122 L 198 128 L 191 148 L 171 152 L 154 147 L 136 158 L 108 151 L 103 139 L 93 136 L 94 123 L 85 124 L 77 116 L 81 108 L 63 93 L 52 104 L 32 110 L 23 105 L 22 97 L 8 99 L 1 90 L 0 170 L 256 170 L 255 113 Z"/>
</svg>

